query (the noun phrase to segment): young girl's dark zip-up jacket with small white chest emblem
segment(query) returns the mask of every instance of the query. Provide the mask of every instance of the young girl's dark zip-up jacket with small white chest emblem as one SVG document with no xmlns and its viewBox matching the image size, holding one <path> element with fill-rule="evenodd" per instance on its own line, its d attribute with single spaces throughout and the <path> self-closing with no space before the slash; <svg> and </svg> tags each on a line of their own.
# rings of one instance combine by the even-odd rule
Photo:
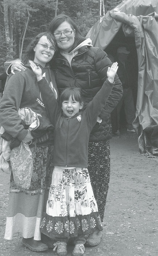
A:
<svg viewBox="0 0 158 256">
<path fill-rule="evenodd" d="M 68 118 L 61 113 L 61 106 L 58 106 L 58 102 L 45 83 L 45 79 L 43 78 L 38 82 L 50 120 L 55 124 L 54 166 L 84 168 L 88 166 L 90 132 L 105 106 L 114 84 L 115 82 L 110 83 L 106 79 L 93 100 L 87 104 L 86 109 Z M 58 109 L 56 113 L 55 109 Z M 53 110 L 56 115 L 53 115 Z"/>
</svg>

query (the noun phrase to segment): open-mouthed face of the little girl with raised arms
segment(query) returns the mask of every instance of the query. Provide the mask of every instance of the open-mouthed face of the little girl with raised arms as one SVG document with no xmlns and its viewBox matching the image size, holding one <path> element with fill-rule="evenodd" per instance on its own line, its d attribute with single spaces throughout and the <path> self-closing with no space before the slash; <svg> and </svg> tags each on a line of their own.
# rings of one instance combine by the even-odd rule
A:
<svg viewBox="0 0 158 256">
<path fill-rule="evenodd" d="M 83 102 L 80 103 L 79 101 L 72 99 L 72 96 L 70 96 L 68 100 L 62 102 L 63 113 L 70 118 L 79 113 L 79 110 L 82 108 Z"/>
</svg>

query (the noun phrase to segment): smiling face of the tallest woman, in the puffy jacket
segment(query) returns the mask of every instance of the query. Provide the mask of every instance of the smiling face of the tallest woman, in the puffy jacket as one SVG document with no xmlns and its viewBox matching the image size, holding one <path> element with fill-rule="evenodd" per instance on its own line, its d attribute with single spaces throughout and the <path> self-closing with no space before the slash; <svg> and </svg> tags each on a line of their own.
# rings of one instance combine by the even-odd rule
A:
<svg viewBox="0 0 158 256">
<path fill-rule="evenodd" d="M 73 28 L 67 21 L 65 21 L 54 31 L 54 34 L 59 32 L 65 32 L 68 30 L 73 30 Z M 55 41 L 59 49 L 67 52 L 71 50 L 74 44 L 74 40 L 75 40 L 75 30 L 70 35 L 62 34 L 61 36 L 55 37 Z"/>
</svg>

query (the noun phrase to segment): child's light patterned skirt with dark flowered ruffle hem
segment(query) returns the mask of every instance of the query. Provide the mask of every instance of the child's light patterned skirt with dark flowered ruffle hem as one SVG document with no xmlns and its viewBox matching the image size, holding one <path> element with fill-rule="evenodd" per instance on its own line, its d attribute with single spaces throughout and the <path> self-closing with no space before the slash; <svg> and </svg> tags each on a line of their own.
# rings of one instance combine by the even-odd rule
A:
<svg viewBox="0 0 158 256">
<path fill-rule="evenodd" d="M 103 230 L 87 168 L 55 166 L 41 232 L 68 238 Z"/>
</svg>

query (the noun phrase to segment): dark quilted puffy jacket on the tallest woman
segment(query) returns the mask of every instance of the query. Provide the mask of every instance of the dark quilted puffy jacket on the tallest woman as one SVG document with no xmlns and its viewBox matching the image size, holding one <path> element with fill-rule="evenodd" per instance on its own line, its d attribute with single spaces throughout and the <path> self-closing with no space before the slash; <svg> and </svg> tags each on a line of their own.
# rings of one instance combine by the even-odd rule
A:
<svg viewBox="0 0 158 256">
<path fill-rule="evenodd" d="M 84 101 L 90 102 L 107 79 L 108 67 L 112 65 L 108 55 L 100 48 L 82 46 L 72 58 L 71 66 L 59 52 L 53 58 L 52 68 L 55 71 L 59 94 L 67 87 L 78 87 L 83 90 Z M 122 97 L 122 84 L 116 74 L 115 85 L 96 123 L 90 141 L 103 141 L 111 138 L 110 113 Z"/>
</svg>

